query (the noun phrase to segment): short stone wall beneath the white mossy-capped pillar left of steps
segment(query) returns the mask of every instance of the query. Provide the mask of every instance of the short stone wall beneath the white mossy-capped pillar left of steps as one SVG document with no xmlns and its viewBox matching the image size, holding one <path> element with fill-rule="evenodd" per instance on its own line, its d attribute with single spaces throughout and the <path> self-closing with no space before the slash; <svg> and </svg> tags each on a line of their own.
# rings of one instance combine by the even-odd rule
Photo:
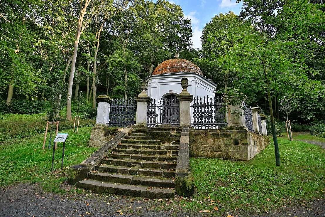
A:
<svg viewBox="0 0 325 217">
<path fill-rule="evenodd" d="M 119 131 L 117 129 L 108 128 L 107 125 L 97 125 L 93 127 L 90 133 L 89 146 L 101 147 L 109 142 Z"/>
</svg>

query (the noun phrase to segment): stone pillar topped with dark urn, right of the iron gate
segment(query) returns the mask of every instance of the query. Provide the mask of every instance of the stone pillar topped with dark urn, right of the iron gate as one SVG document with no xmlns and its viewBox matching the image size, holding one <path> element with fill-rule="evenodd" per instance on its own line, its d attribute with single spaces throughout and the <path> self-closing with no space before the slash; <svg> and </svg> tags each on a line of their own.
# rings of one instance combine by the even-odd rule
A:
<svg viewBox="0 0 325 217">
<path fill-rule="evenodd" d="M 189 127 L 191 126 L 191 110 L 190 104 L 193 101 L 193 95 L 190 95 L 187 91 L 188 79 L 182 78 L 182 92 L 176 96 L 179 101 L 179 126 L 180 127 Z"/>
</svg>

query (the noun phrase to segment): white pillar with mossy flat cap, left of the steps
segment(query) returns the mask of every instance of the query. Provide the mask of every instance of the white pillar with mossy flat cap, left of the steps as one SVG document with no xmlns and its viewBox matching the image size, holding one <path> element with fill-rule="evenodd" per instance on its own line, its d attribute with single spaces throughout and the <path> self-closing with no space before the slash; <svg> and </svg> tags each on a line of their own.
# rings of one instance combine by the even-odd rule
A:
<svg viewBox="0 0 325 217">
<path fill-rule="evenodd" d="M 103 94 L 96 98 L 97 104 L 97 116 L 96 125 L 107 125 L 110 122 L 110 103 L 112 99 Z"/>
</svg>

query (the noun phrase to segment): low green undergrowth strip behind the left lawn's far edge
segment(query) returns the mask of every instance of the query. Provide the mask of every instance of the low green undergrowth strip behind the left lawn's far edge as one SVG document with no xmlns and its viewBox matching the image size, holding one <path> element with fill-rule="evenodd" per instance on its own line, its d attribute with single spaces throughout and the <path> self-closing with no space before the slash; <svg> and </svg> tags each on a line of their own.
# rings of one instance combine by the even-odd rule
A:
<svg viewBox="0 0 325 217">
<path fill-rule="evenodd" d="M 0 140 L 7 140 L 11 138 L 30 137 L 38 133 L 44 133 L 46 128 L 46 121 L 43 119 L 45 114 L 6 114 L 0 119 Z M 92 127 L 96 123 L 92 119 L 80 119 L 79 127 Z M 49 125 L 49 128 L 51 125 Z M 56 125 L 53 125 L 56 129 Z M 72 129 L 73 120 L 59 121 L 59 130 Z"/>
</svg>

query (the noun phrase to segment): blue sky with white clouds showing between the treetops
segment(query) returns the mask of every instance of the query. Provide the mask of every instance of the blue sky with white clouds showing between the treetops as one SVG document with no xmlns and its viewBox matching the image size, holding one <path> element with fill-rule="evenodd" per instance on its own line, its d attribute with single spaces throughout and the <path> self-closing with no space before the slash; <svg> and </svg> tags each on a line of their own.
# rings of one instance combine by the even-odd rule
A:
<svg viewBox="0 0 325 217">
<path fill-rule="evenodd" d="M 169 2 L 180 5 L 185 18 L 191 20 L 193 48 L 201 48 L 202 30 L 216 14 L 233 11 L 239 15 L 242 10 L 242 2 L 237 3 L 236 0 L 170 0 Z"/>
</svg>

